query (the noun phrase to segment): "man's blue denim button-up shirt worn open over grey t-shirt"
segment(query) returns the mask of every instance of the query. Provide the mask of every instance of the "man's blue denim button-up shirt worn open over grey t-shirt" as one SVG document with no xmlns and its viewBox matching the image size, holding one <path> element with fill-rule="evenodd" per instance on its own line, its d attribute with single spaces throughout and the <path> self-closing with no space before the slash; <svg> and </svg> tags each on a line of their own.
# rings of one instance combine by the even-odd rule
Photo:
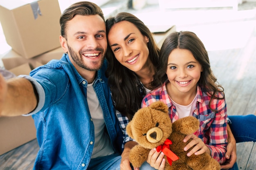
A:
<svg viewBox="0 0 256 170">
<path fill-rule="evenodd" d="M 93 87 L 112 147 L 121 153 L 123 132 L 115 115 L 106 68 L 104 60 Z M 86 97 L 88 82 L 79 75 L 67 54 L 34 69 L 30 75 L 45 93 L 40 111 L 28 114 L 34 119 L 40 146 L 34 170 L 85 170 L 94 147 L 94 125 Z"/>
</svg>

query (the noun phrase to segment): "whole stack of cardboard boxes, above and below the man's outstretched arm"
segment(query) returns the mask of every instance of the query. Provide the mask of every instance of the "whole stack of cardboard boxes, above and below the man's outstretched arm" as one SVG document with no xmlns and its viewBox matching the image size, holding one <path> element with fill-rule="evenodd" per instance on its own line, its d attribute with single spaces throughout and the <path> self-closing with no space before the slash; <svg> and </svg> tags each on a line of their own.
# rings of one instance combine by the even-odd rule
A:
<svg viewBox="0 0 256 170">
<path fill-rule="evenodd" d="M 29 75 L 37 66 L 60 59 L 61 10 L 58 0 L 1 0 L 0 22 L 12 49 L 3 54 L 4 68 Z M 0 155 L 36 138 L 29 117 L 0 117 Z"/>
</svg>

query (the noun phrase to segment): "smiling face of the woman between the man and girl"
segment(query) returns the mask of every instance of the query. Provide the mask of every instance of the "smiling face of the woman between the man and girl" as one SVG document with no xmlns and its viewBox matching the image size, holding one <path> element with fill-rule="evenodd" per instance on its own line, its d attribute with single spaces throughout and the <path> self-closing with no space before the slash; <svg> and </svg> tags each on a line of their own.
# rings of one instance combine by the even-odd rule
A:
<svg viewBox="0 0 256 170">
<path fill-rule="evenodd" d="M 108 44 L 116 59 L 131 71 L 141 71 L 148 62 L 148 37 L 128 21 L 112 26 L 108 33 Z"/>
</svg>

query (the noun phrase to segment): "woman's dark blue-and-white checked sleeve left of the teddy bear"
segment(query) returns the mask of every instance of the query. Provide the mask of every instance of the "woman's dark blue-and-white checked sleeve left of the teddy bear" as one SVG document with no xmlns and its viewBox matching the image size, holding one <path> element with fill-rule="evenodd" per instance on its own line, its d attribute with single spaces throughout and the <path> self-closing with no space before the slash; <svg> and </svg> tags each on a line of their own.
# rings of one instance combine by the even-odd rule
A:
<svg viewBox="0 0 256 170">
<path fill-rule="evenodd" d="M 117 119 L 119 121 L 120 128 L 121 128 L 121 130 L 124 134 L 124 141 L 123 141 L 123 144 L 122 144 L 122 149 L 124 149 L 124 144 L 126 144 L 126 142 L 135 141 L 135 140 L 132 139 L 131 137 L 129 137 L 127 132 L 126 132 L 126 126 L 129 123 L 128 117 L 122 115 L 119 111 L 116 111 L 116 115 L 117 115 Z"/>
</svg>

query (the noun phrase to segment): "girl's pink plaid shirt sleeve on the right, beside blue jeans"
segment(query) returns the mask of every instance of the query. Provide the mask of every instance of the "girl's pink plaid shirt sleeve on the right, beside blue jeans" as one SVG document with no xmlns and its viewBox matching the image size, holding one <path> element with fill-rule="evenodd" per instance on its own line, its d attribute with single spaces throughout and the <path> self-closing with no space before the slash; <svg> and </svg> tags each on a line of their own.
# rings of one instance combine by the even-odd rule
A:
<svg viewBox="0 0 256 170">
<path fill-rule="evenodd" d="M 209 128 L 209 144 L 207 146 L 211 151 L 211 156 L 222 164 L 226 161 L 227 108 L 225 99 L 218 99 L 217 101 L 215 106 L 218 111 L 215 113 L 215 117 Z M 214 107 L 212 106 L 212 108 Z M 204 137 L 204 143 L 208 143 L 206 138 Z"/>
</svg>

